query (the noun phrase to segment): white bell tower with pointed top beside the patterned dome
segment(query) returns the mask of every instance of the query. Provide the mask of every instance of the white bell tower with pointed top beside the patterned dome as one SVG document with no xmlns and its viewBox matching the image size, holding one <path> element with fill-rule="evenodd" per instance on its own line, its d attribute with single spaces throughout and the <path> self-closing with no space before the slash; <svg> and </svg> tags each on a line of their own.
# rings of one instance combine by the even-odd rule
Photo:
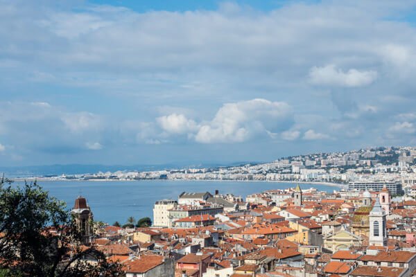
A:
<svg viewBox="0 0 416 277">
<path fill-rule="evenodd" d="M 387 229 L 385 226 L 385 211 L 381 208 L 379 198 L 370 212 L 370 246 L 387 246 Z"/>
</svg>

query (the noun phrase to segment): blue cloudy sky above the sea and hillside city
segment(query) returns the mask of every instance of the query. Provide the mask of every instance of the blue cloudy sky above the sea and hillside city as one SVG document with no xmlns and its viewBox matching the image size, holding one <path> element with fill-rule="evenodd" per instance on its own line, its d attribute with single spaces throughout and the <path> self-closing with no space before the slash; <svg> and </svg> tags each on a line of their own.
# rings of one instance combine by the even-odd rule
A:
<svg viewBox="0 0 416 277">
<path fill-rule="evenodd" d="M 416 145 L 416 1 L 0 4 L 0 166 Z"/>
</svg>

